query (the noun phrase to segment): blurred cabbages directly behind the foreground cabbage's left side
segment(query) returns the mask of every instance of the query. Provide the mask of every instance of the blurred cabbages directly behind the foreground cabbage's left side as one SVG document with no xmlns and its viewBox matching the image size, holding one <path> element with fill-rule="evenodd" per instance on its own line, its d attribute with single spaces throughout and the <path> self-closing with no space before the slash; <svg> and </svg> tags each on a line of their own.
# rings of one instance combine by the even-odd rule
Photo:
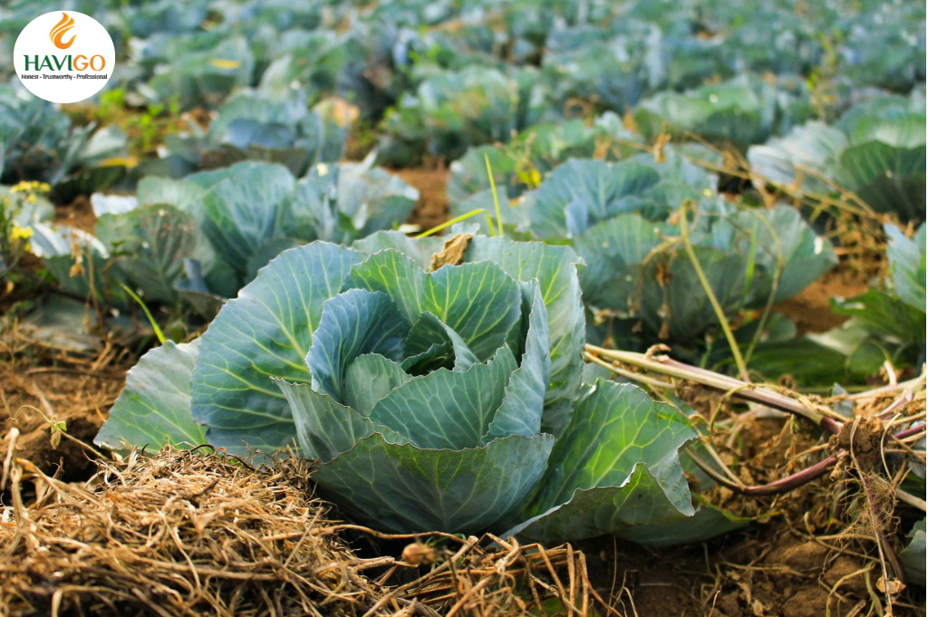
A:
<svg viewBox="0 0 928 617">
<path fill-rule="evenodd" d="M 125 305 L 128 286 L 212 317 L 280 251 L 393 228 L 417 199 L 371 160 L 319 163 L 300 180 L 280 164 L 243 161 L 181 180 L 148 176 L 135 196 L 94 194 L 94 235 L 33 220 L 32 252 L 68 292 Z"/>
</svg>

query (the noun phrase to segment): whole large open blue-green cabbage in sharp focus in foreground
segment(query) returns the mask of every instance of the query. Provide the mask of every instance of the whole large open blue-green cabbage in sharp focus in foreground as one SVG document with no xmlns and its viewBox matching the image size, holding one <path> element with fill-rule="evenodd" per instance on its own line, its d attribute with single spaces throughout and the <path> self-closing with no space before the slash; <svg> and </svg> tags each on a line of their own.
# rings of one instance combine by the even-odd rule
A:
<svg viewBox="0 0 928 617">
<path fill-rule="evenodd" d="M 199 341 L 141 359 L 97 443 L 293 447 L 320 495 L 384 531 L 691 539 L 673 525 L 715 516 L 679 460 L 696 432 L 635 386 L 581 384 L 574 250 L 442 248 L 380 232 L 282 252 Z"/>
</svg>

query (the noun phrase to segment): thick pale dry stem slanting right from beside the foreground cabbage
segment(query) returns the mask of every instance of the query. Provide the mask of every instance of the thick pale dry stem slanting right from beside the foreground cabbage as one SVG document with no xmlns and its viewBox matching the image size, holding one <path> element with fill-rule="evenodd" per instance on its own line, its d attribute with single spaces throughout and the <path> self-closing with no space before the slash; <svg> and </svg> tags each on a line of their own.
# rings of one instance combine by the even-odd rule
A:
<svg viewBox="0 0 928 617">
<path fill-rule="evenodd" d="M 818 411 L 810 409 L 794 398 L 768 390 L 762 385 L 747 383 L 741 379 L 735 379 L 726 375 L 720 375 L 711 370 L 690 366 L 682 362 L 677 362 L 667 356 L 649 356 L 645 353 L 635 352 L 618 352 L 609 349 L 603 349 L 596 345 L 586 345 L 588 353 L 596 353 L 602 357 L 611 360 L 618 360 L 639 368 L 646 368 L 655 373 L 667 375 L 677 379 L 687 379 L 695 381 L 703 386 L 720 390 L 722 392 L 731 392 L 731 395 L 745 401 L 767 405 L 780 411 L 791 413 L 814 422 L 825 431 L 837 434 L 844 426 L 844 422 L 836 418 L 830 418 Z"/>
</svg>

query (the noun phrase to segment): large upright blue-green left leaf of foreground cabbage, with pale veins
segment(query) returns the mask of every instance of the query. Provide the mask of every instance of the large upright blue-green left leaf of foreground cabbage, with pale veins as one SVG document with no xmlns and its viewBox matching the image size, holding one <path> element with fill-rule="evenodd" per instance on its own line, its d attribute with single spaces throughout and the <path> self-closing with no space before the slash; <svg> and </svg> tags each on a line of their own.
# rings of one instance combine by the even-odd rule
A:
<svg viewBox="0 0 928 617">
<path fill-rule="evenodd" d="M 309 383 L 303 358 L 323 303 L 364 255 L 325 242 L 290 251 L 226 302 L 203 335 L 192 379 L 193 416 L 229 451 L 284 448 L 295 437 L 290 405 L 271 378 Z"/>
</svg>

